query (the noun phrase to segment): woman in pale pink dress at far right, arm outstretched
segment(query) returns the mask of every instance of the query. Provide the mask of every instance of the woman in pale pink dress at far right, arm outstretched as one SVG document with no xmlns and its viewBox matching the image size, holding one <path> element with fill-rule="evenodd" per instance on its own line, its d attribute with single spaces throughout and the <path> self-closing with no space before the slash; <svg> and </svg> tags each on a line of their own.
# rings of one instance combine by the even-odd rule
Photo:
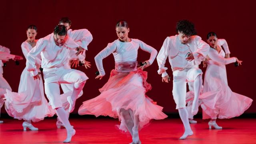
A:
<svg viewBox="0 0 256 144">
<path fill-rule="evenodd" d="M 208 66 L 204 76 L 203 94 L 200 96 L 200 99 L 202 98 L 201 107 L 203 110 L 203 119 L 211 119 L 208 122 L 210 129 L 212 126 L 216 129 L 222 129 L 222 127 L 218 126 L 216 123 L 216 119 L 240 116 L 250 107 L 252 99 L 232 92 L 228 86 L 225 65 L 232 62 L 238 62 L 238 64 L 241 65 L 242 61 L 238 60 L 236 57 L 224 58 L 227 51 L 229 52 L 226 40 L 218 39 L 216 33 L 210 32 L 207 34 L 207 42 L 210 45 L 210 51 L 206 57 Z M 226 54 L 221 46 L 226 48 Z M 212 102 L 203 99 L 208 96 L 207 92 L 215 94 Z M 214 108 L 210 106 L 213 103 Z"/>
</svg>

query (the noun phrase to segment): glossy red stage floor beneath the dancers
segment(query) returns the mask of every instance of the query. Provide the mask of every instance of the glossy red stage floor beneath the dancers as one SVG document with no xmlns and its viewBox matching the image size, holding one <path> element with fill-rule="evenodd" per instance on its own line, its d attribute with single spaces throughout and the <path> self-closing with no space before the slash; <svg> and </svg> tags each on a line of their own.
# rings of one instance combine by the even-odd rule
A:
<svg viewBox="0 0 256 144">
<path fill-rule="evenodd" d="M 38 131 L 23 131 L 22 120 L 2 119 L 0 124 L 1 144 L 58 144 L 66 137 L 65 129 L 57 129 L 54 118 L 33 123 Z M 209 130 L 208 120 L 198 120 L 191 124 L 194 135 L 186 140 L 178 138 L 183 133 L 182 122 L 178 118 L 154 120 L 140 131 L 142 144 L 256 144 L 256 120 L 253 118 L 233 118 L 218 120 L 223 130 Z M 76 129 L 72 138 L 74 144 L 128 144 L 131 137 L 114 128 L 118 120 L 111 118 L 71 118 Z"/>
</svg>

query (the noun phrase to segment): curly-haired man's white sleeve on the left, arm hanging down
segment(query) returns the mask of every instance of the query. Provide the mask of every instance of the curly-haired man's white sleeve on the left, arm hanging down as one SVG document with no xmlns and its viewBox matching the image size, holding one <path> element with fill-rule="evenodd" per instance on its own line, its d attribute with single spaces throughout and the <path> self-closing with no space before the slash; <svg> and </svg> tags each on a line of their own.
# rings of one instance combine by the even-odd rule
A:
<svg viewBox="0 0 256 144">
<path fill-rule="evenodd" d="M 164 40 L 164 43 L 163 43 L 163 45 L 162 45 L 162 47 L 161 47 L 161 49 L 158 52 L 158 55 L 156 57 L 158 67 L 159 67 L 159 70 L 157 72 L 158 72 L 158 74 L 162 74 L 162 77 L 167 76 L 166 70 L 168 68 L 164 67 L 164 64 L 166 62 L 166 59 L 168 58 L 169 42 L 170 42 L 170 38 L 167 37 Z"/>
</svg>

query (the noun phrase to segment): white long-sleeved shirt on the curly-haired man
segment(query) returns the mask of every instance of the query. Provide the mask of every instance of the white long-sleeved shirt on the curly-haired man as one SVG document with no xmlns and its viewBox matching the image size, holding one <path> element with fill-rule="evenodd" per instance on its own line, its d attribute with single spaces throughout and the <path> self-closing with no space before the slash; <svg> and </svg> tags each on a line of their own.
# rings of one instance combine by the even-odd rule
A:
<svg viewBox="0 0 256 144">
<path fill-rule="evenodd" d="M 194 56 L 194 60 L 186 62 L 188 56 L 184 56 L 182 53 L 183 47 L 189 48 Z M 180 42 L 178 35 L 167 37 L 156 57 L 159 66 L 158 74 L 162 74 L 162 77 L 167 76 L 167 68 L 164 67 L 167 57 L 169 58 L 172 71 L 198 67 L 208 54 L 209 48 L 210 46 L 200 36 L 191 36 L 186 44 Z"/>
</svg>

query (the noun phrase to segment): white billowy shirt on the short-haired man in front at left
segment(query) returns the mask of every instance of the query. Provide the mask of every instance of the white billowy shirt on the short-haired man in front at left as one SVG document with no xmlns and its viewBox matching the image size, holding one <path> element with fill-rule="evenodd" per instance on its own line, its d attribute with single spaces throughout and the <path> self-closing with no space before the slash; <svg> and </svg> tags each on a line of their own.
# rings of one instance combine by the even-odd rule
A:
<svg viewBox="0 0 256 144">
<path fill-rule="evenodd" d="M 64 66 L 68 61 L 70 50 L 76 49 L 77 47 L 79 47 L 79 45 L 69 36 L 66 42 L 60 46 L 56 45 L 53 33 L 44 38 L 40 38 L 36 43 L 36 46 L 32 48 L 27 55 L 26 66 L 28 71 L 30 71 L 30 75 L 36 76 L 38 74 L 36 72 L 35 59 L 39 54 L 41 54 L 42 58 L 42 68 L 60 67 Z"/>
</svg>

